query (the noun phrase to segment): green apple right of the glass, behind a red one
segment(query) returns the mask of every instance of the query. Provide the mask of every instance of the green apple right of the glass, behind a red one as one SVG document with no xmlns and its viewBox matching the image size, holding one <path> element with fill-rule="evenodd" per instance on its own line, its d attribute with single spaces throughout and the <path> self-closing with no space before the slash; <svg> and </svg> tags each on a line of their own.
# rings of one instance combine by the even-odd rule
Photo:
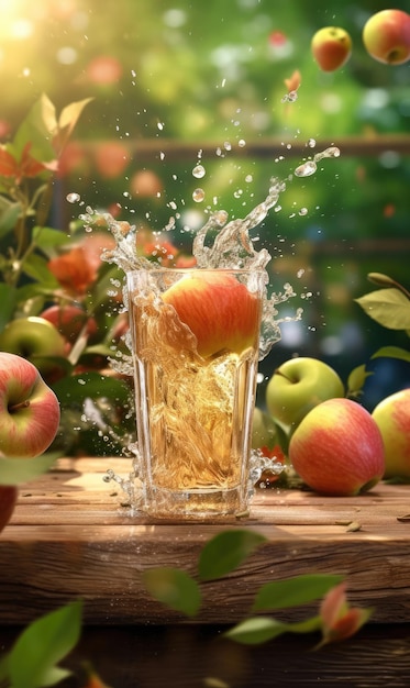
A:
<svg viewBox="0 0 410 688">
<path fill-rule="evenodd" d="M 337 373 L 323 360 L 301 356 L 280 365 L 266 388 L 266 404 L 273 418 L 295 430 L 318 403 L 344 397 Z"/>
</svg>

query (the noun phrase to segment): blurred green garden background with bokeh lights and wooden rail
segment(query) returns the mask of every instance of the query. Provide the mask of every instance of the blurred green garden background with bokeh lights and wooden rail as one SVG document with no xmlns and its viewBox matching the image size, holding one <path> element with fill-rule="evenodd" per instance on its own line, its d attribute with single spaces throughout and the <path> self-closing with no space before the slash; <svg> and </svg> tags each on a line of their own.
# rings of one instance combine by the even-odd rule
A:
<svg viewBox="0 0 410 688">
<path fill-rule="evenodd" d="M 273 256 L 274 290 L 290 282 L 297 293 L 280 317 L 302 307 L 303 318 L 282 325 L 262 371 L 297 354 L 344 379 L 368 364 L 373 408 L 410 385 L 408 364 L 369 362 L 383 345 L 407 347 L 406 333 L 354 301 L 375 288 L 369 271 L 410 287 L 409 63 L 379 64 L 362 43 L 365 21 L 383 9 L 379 0 L 0 0 L 0 141 L 43 92 L 58 110 L 92 97 L 55 182 L 54 225 L 78 217 L 66 200 L 75 192 L 155 232 L 175 217 L 177 246 L 190 245 L 211 210 L 244 217 L 273 177 L 286 181 L 254 237 Z M 326 25 L 343 26 L 354 46 L 332 74 L 310 52 Z M 340 157 L 293 175 L 330 145 Z M 198 163 L 202 178 L 192 175 Z"/>
</svg>

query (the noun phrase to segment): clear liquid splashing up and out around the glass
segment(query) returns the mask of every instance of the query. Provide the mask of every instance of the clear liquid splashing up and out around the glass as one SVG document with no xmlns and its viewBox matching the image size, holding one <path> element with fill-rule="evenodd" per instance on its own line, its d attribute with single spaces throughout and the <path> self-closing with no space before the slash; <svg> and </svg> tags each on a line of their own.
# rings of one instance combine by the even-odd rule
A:
<svg viewBox="0 0 410 688">
<path fill-rule="evenodd" d="M 307 160 L 295 169 L 296 177 L 308 177 L 317 170 L 317 163 L 326 157 L 339 157 L 340 149 L 331 146 L 321 153 L 317 153 L 312 160 Z M 204 175 L 202 169 L 195 168 L 195 177 Z M 198 174 L 199 173 L 199 174 Z M 208 222 L 196 233 L 192 243 L 192 255 L 196 258 L 198 269 L 230 268 L 230 269 L 254 269 L 264 270 L 266 292 L 264 298 L 261 343 L 259 343 L 259 360 L 266 357 L 272 346 L 280 340 L 280 323 L 289 320 L 300 320 L 302 309 L 297 309 L 292 318 L 278 319 L 277 306 L 288 301 L 296 293 L 289 284 L 284 286 L 284 291 L 273 293 L 270 298 L 267 296 L 267 285 L 269 281 L 266 266 L 272 256 L 266 248 L 256 251 L 250 232 L 259 225 L 267 217 L 269 210 L 277 207 L 278 199 L 286 190 L 286 182 L 272 178 L 268 195 L 264 201 L 257 204 L 244 219 L 234 219 L 228 222 L 229 215 L 224 210 L 214 211 Z M 199 191 L 199 190 L 197 190 Z M 198 200 L 198 199 L 195 199 Z M 301 209 L 300 214 L 304 214 L 307 209 Z M 115 238 L 115 248 L 106 249 L 102 259 L 108 263 L 117 264 L 125 274 L 138 269 L 155 269 L 157 265 L 148 260 L 148 258 L 136 253 L 136 234 L 135 226 L 126 222 L 115 221 L 109 213 L 96 213 L 91 208 L 86 209 L 86 213 L 80 215 L 80 220 L 85 224 L 85 229 L 95 225 L 96 219 L 101 225 L 101 221 L 107 225 Z M 169 223 L 168 223 L 169 225 Z M 169 225 L 170 226 L 170 225 Z M 174 223 L 171 223 L 174 226 Z M 124 292 L 124 307 L 128 308 L 128 295 Z M 129 341 L 125 340 L 131 352 L 131 335 Z M 133 375 L 132 356 L 122 355 L 120 359 L 113 359 L 112 365 L 120 373 Z M 134 455 L 133 470 L 126 479 L 115 475 L 113 470 L 108 470 L 104 477 L 106 481 L 117 481 L 126 493 L 132 509 L 138 509 L 141 495 L 135 488 L 135 480 L 138 478 L 140 450 L 137 443 L 131 444 L 128 450 Z M 251 456 L 250 470 L 250 492 L 254 490 L 254 485 L 259 479 L 265 468 L 269 470 L 282 470 L 282 465 L 264 457 L 261 452 L 254 451 Z"/>
</svg>

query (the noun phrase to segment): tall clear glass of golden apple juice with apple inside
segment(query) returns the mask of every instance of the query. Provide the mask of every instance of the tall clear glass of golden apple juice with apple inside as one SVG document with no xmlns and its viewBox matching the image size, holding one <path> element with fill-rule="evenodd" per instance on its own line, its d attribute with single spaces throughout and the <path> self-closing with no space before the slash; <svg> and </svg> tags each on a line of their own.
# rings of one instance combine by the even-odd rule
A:
<svg viewBox="0 0 410 688">
<path fill-rule="evenodd" d="M 136 473 L 153 515 L 247 507 L 264 288 L 263 270 L 128 275 Z"/>
</svg>

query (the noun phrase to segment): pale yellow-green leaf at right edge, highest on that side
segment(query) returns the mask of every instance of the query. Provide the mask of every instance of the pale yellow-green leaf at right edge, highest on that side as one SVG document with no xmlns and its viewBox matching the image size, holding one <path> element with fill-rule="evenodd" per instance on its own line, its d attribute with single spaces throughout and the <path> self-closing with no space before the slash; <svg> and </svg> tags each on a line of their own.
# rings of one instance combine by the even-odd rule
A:
<svg viewBox="0 0 410 688">
<path fill-rule="evenodd" d="M 376 322 L 389 330 L 410 329 L 410 301 L 398 289 L 378 289 L 355 299 Z"/>
</svg>

